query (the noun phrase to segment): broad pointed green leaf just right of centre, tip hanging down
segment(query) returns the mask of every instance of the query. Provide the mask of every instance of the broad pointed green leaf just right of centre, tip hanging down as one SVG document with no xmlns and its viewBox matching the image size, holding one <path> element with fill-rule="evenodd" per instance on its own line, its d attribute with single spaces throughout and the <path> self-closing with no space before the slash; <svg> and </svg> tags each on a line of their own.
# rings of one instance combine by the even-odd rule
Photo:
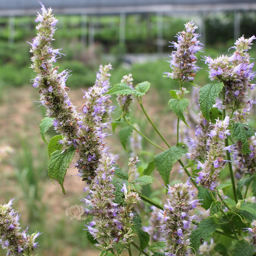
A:
<svg viewBox="0 0 256 256">
<path fill-rule="evenodd" d="M 160 173 L 164 184 L 167 185 L 170 180 L 170 173 L 173 164 L 187 153 L 187 146 L 178 145 L 173 146 L 164 152 L 154 156 L 156 170 Z"/>
</svg>

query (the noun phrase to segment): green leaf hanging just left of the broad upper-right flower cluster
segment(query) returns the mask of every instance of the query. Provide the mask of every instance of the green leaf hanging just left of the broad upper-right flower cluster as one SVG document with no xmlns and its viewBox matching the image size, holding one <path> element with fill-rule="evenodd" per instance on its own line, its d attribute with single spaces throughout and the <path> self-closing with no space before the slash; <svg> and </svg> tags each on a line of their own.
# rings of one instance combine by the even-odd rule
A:
<svg viewBox="0 0 256 256">
<path fill-rule="evenodd" d="M 223 83 L 206 84 L 199 90 L 199 104 L 205 119 L 210 121 L 210 110 L 224 86 Z"/>
</svg>

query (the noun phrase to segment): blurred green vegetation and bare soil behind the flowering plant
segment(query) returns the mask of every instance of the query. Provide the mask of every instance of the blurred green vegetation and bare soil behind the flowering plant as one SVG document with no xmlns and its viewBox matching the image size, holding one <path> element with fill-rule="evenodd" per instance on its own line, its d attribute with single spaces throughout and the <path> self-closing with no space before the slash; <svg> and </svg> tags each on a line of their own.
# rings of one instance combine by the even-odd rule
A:
<svg viewBox="0 0 256 256">
<path fill-rule="evenodd" d="M 256 34 L 255 13 L 242 13 L 241 17 L 242 34 L 245 37 Z M 92 21 L 95 27 L 94 44 L 89 46 L 85 45 L 83 39 L 89 36 L 88 28 L 81 29 L 80 16 L 57 18 L 59 23 L 54 47 L 62 48 L 61 52 L 66 55 L 58 60 L 57 65 L 60 66 L 60 70 L 72 70 L 67 86 L 71 89 L 75 105 L 79 107 L 83 105 L 81 88 L 86 89 L 94 84 L 95 72 L 99 64 L 107 64 L 111 59 L 114 68 L 111 72 L 111 84 L 118 83 L 122 76 L 128 73 L 133 74 L 134 84 L 142 81 L 149 81 L 152 84 L 144 104 L 153 119 L 161 123 L 159 127 L 161 132 L 169 134 L 167 139 L 172 140 L 175 132 L 172 134 L 172 114 L 167 106 L 168 92 L 178 84 L 164 78 L 162 74 L 170 70 L 166 60 L 172 48 L 168 48 L 170 45 L 168 42 L 175 40 L 176 33 L 183 30 L 183 24 L 191 17 L 180 19 L 164 16 L 164 54 L 156 56 L 155 59 L 147 55 L 142 60 L 141 53 L 153 55 L 157 52 L 157 17 L 153 14 L 127 15 L 125 45 L 119 43 L 118 16 L 88 17 L 88 21 Z M 23 227 L 26 228 L 29 224 L 30 232 L 36 230 L 43 232 L 38 238 L 40 247 L 36 252 L 39 255 L 93 255 L 91 250 L 94 248 L 87 243 L 83 223 L 65 216 L 66 207 L 79 204 L 78 198 L 83 197 L 83 182 L 70 176 L 76 174 L 76 169 L 70 168 L 70 175 L 66 177 L 64 183 L 67 187 L 66 195 L 63 195 L 60 188 L 54 186 L 47 176 L 46 144 L 40 139 L 38 127 L 44 117 L 44 108 L 36 108 L 39 104 L 33 100 L 38 99 L 38 96 L 32 84 L 29 84 L 29 80 L 33 79 L 35 74 L 29 68 L 31 54 L 30 46 L 26 41 L 31 42 L 35 36 L 34 19 L 34 17 L 15 18 L 15 33 L 12 37 L 9 19 L 0 18 L 0 154 L 3 155 L 1 148 L 7 145 L 14 149 L 12 153 L 6 153 L 0 162 L 0 203 L 7 203 L 10 198 L 16 197 L 14 208 L 22 213 Z M 200 54 L 211 57 L 228 54 L 228 48 L 234 44 L 233 19 L 233 13 L 205 17 L 206 48 L 204 53 L 199 53 L 197 56 L 199 66 L 206 68 L 204 61 L 200 60 L 202 59 Z M 138 54 L 138 61 L 130 63 L 127 53 Z M 256 57 L 255 47 L 251 51 L 251 56 Z M 145 61 L 147 58 L 148 61 Z M 200 86 L 208 83 L 207 72 L 200 71 L 195 82 Z M 189 89 L 192 89 L 191 86 Z M 135 104 L 134 108 L 137 107 Z M 117 111 L 116 116 L 118 116 Z M 142 130 L 150 134 L 152 130 L 147 127 L 147 122 L 140 114 L 132 118 Z M 53 134 L 54 131 L 51 130 L 49 137 Z M 113 153 L 119 153 L 121 146 L 116 135 L 108 137 L 111 137 L 108 139 L 108 144 L 115 145 Z M 150 149 L 144 141 L 143 146 L 147 150 Z M 129 152 L 119 153 L 119 156 L 123 156 L 119 161 L 126 163 Z M 147 156 L 143 156 L 142 159 L 147 159 Z M 141 170 L 143 164 L 142 161 Z M 179 175 L 181 174 L 177 174 L 173 179 L 179 179 Z M 147 192 L 152 191 L 148 188 Z M 157 193 L 160 192 L 151 195 L 156 196 Z M 5 253 L 0 251 L 0 255 Z"/>
</svg>

